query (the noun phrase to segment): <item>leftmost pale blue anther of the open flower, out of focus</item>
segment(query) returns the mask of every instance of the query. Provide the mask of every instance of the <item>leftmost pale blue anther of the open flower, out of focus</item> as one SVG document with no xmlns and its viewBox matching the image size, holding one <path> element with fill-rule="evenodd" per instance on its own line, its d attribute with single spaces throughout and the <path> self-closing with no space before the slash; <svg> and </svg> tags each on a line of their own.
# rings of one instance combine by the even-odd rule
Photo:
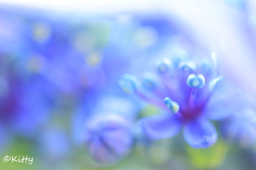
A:
<svg viewBox="0 0 256 170">
<path fill-rule="evenodd" d="M 139 80 L 137 80 L 134 75 L 125 74 L 122 79 L 119 80 L 119 85 L 126 93 L 132 94 L 138 89 Z"/>
</svg>

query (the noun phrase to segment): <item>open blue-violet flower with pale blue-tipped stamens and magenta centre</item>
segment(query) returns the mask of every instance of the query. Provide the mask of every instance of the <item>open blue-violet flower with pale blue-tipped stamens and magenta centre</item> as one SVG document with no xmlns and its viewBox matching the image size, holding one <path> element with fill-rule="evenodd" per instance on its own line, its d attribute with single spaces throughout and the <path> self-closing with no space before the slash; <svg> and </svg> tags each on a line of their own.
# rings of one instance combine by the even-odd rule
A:
<svg viewBox="0 0 256 170">
<path fill-rule="evenodd" d="M 148 138 L 173 137 L 183 128 L 184 139 L 194 148 L 207 148 L 216 142 L 217 131 L 209 119 L 230 116 L 239 101 L 237 90 L 220 75 L 215 59 L 214 54 L 211 60 L 165 58 L 158 64 L 158 78 L 149 81 L 147 76 L 140 84 L 134 75 L 124 75 L 119 83 L 124 91 L 164 112 L 139 120 Z M 154 86 L 145 87 L 145 81 Z"/>
</svg>

